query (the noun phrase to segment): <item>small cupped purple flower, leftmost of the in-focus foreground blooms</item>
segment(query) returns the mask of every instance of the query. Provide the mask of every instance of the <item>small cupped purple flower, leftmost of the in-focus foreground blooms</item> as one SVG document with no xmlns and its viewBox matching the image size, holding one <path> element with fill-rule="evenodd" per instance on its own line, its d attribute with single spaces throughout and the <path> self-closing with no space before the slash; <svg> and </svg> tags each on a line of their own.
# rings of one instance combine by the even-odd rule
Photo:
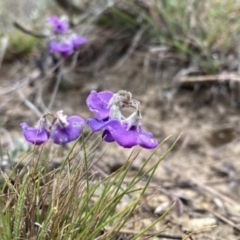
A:
<svg viewBox="0 0 240 240">
<path fill-rule="evenodd" d="M 32 128 L 24 122 L 21 123 L 20 126 L 22 128 L 25 139 L 30 143 L 41 145 L 49 138 L 49 131 L 44 127 L 41 127 L 40 124 L 37 127 Z"/>
</svg>

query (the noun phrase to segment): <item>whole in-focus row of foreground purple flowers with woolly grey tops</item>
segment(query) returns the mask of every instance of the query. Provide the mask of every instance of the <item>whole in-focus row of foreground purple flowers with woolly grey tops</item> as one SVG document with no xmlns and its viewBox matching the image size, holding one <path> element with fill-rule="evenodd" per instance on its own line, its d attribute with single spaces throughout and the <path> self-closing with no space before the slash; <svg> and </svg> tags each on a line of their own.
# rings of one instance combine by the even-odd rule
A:
<svg viewBox="0 0 240 240">
<path fill-rule="evenodd" d="M 125 148 L 136 145 L 147 149 L 157 147 L 158 141 L 153 138 L 152 133 L 142 129 L 140 103 L 132 98 L 130 92 L 121 90 L 114 94 L 110 91 L 92 91 L 86 102 L 95 115 L 95 118 L 89 118 L 87 123 L 94 132 L 103 130 L 104 141 L 115 141 Z M 124 108 L 133 109 L 133 112 L 124 117 Z M 54 116 L 51 124 L 47 121 L 48 115 Z M 76 140 L 85 125 L 81 117 L 67 117 L 62 111 L 43 115 L 34 128 L 29 127 L 27 123 L 21 123 L 25 139 L 36 145 L 46 142 L 49 138 L 56 144 L 65 145 Z"/>
</svg>

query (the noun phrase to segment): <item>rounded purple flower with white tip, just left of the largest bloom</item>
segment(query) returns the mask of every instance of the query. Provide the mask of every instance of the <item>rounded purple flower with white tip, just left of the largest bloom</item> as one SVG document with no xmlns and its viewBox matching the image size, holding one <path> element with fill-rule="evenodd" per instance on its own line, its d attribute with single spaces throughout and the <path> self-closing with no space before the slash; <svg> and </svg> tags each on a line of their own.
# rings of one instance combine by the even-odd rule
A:
<svg viewBox="0 0 240 240">
<path fill-rule="evenodd" d="M 79 116 L 61 115 L 51 131 L 51 138 L 56 144 L 64 145 L 76 140 L 85 127 L 85 121 Z"/>
</svg>

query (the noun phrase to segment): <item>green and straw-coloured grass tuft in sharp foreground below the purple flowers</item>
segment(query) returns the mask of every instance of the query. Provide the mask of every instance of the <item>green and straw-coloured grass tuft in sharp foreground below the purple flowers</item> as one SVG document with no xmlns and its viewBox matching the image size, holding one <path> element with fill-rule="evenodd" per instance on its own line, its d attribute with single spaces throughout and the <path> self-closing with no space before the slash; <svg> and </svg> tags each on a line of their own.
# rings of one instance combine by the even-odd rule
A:
<svg viewBox="0 0 240 240">
<path fill-rule="evenodd" d="M 126 184 L 124 180 L 138 153 L 132 153 L 116 172 L 102 177 L 92 169 L 96 164 L 94 152 L 86 149 L 89 148 L 83 139 L 76 141 L 62 165 L 51 171 L 46 167 L 47 150 L 35 149 L 27 155 L 32 156 L 30 165 L 20 172 L 13 170 L 14 175 L 4 175 L 0 193 L 1 239 L 116 239 L 126 229 L 145 204 L 146 190 L 165 155 L 149 167 L 154 151 Z M 72 158 L 76 154 L 82 156 L 81 161 Z M 140 185 L 146 178 L 146 183 Z M 149 234 L 164 216 L 133 234 L 133 239 Z"/>
</svg>

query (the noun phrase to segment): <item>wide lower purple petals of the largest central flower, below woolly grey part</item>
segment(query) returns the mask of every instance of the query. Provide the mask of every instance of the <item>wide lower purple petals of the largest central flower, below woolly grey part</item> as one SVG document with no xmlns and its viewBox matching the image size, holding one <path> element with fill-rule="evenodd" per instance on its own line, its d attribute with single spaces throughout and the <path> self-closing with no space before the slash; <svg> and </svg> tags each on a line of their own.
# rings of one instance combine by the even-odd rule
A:
<svg viewBox="0 0 240 240">
<path fill-rule="evenodd" d="M 99 121 L 95 118 L 88 119 L 88 124 L 93 131 L 104 130 L 102 138 L 106 142 L 116 141 L 120 146 L 131 148 L 139 145 L 151 149 L 158 145 L 150 132 L 144 132 L 141 126 L 132 126 L 128 129 L 127 123 L 121 123 L 117 119 Z"/>
</svg>

